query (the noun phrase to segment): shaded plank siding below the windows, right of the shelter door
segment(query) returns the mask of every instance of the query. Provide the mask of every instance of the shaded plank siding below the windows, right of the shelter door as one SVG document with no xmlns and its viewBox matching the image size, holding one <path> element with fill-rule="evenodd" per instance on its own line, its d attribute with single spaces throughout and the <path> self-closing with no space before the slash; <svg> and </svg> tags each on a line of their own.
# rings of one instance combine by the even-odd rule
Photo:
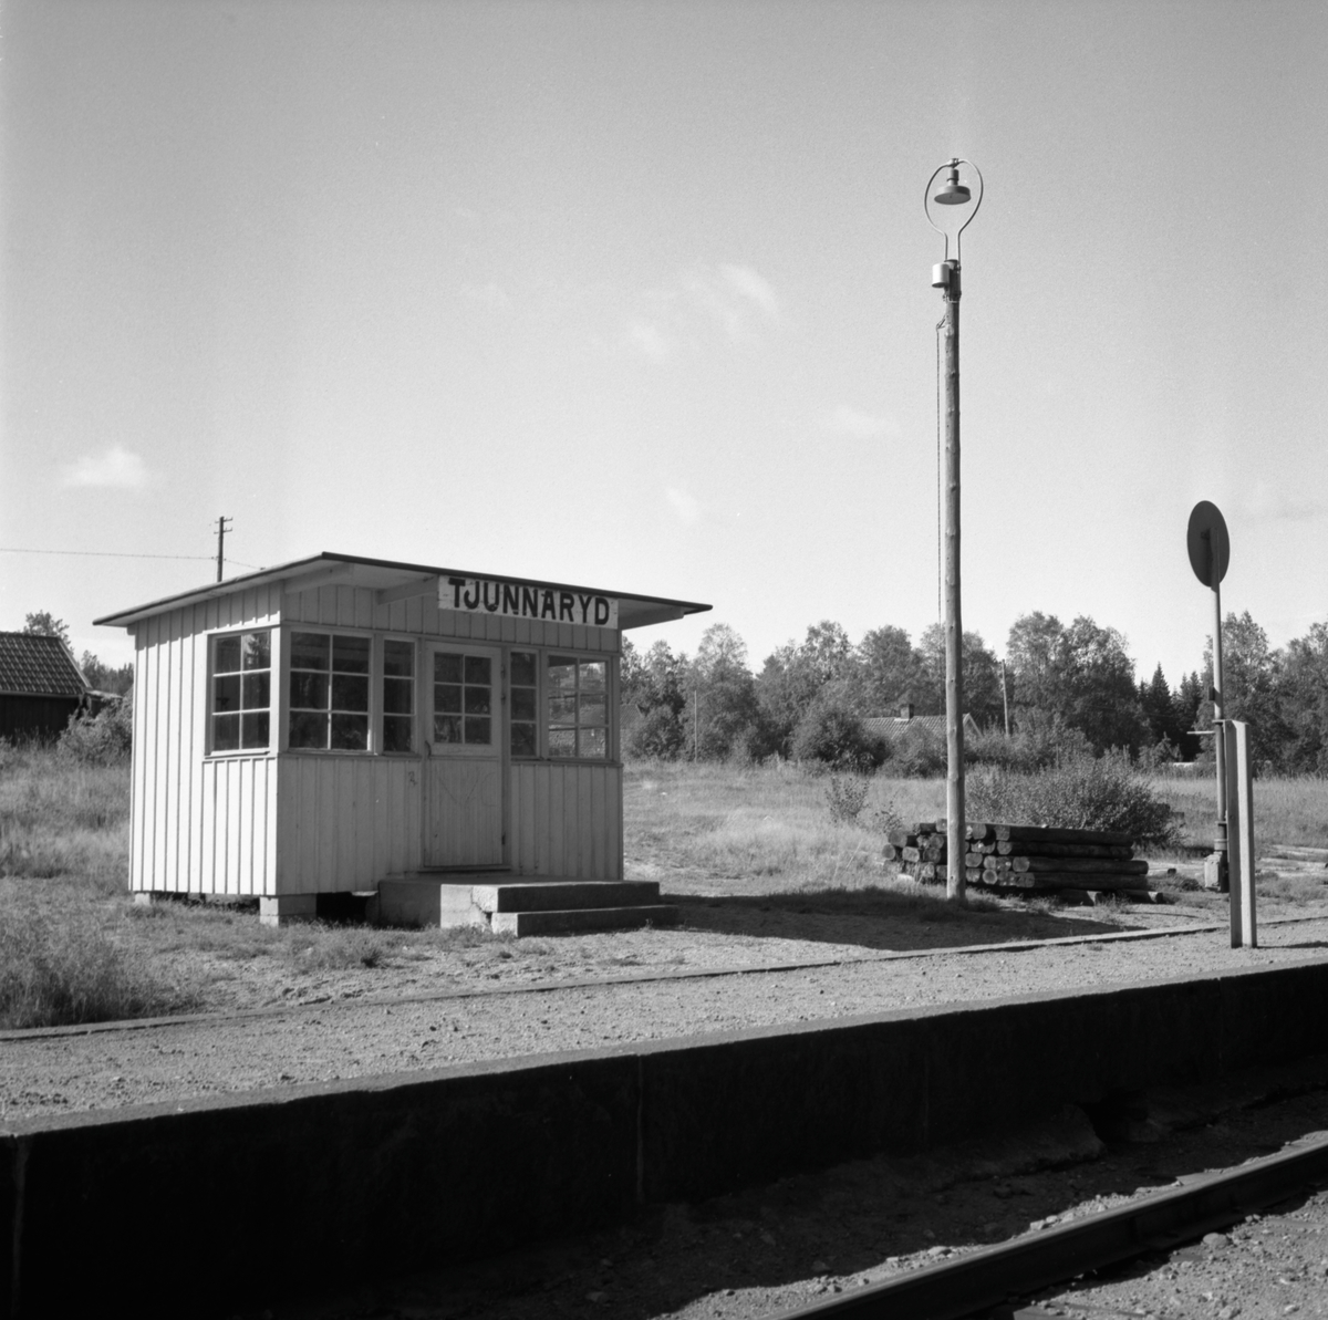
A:
<svg viewBox="0 0 1328 1320">
<path fill-rule="evenodd" d="M 514 764 L 511 868 L 518 875 L 622 879 L 622 802 L 616 765 Z"/>
</svg>

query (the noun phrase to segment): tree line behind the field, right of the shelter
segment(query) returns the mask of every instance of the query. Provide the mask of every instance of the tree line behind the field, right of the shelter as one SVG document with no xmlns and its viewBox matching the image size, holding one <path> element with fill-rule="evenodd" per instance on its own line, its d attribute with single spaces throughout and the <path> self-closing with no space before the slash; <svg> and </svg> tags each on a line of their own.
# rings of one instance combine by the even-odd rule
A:
<svg viewBox="0 0 1328 1320">
<path fill-rule="evenodd" d="M 1038 730 L 1066 746 L 1127 752 L 1153 764 L 1211 756 L 1211 640 L 1201 668 L 1173 689 L 1161 664 L 1135 680 L 1125 636 L 1086 615 L 1021 615 L 1009 629 L 1004 665 L 980 633 L 963 637 L 964 705 L 977 725 Z M 1248 720 L 1262 773 L 1328 773 L 1328 624 L 1316 623 L 1282 649 L 1250 616 L 1223 624 L 1227 716 Z M 914 644 L 894 625 L 857 644 L 822 620 L 802 641 L 766 656 L 758 671 L 725 623 L 706 628 L 695 656 L 667 641 L 637 651 L 623 641 L 624 746 L 661 758 L 834 760 L 865 746 L 862 721 L 943 714 L 946 643 L 940 624 Z M 857 733 L 854 726 L 857 725 Z M 857 740 L 857 741 L 855 741 Z"/>
</svg>

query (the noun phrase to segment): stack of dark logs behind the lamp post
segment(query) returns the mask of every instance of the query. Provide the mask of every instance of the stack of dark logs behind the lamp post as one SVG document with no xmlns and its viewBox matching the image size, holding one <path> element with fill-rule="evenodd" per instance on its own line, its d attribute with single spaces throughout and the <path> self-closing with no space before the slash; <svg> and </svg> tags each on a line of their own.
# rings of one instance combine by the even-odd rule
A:
<svg viewBox="0 0 1328 1320">
<path fill-rule="evenodd" d="M 1146 890 L 1149 863 L 1134 861 L 1127 834 L 1056 830 L 1040 825 L 969 825 L 964 878 L 1017 890 Z M 923 821 L 886 835 L 886 859 L 904 875 L 944 882 L 944 821 Z"/>
</svg>

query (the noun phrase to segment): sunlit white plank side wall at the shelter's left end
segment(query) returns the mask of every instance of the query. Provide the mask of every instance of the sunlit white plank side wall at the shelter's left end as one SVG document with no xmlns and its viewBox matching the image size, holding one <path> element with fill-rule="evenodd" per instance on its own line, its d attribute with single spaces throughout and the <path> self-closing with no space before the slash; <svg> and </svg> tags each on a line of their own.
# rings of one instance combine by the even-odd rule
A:
<svg viewBox="0 0 1328 1320">
<path fill-rule="evenodd" d="M 134 764 L 129 887 L 275 892 L 271 757 L 206 761 L 207 633 L 271 627 L 280 591 L 256 587 L 134 628 Z"/>
</svg>

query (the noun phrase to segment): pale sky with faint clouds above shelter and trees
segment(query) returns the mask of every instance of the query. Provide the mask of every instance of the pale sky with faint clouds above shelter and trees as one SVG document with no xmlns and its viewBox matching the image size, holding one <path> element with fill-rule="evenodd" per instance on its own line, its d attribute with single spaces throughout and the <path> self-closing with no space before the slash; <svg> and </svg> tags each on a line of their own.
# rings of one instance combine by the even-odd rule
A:
<svg viewBox="0 0 1328 1320">
<path fill-rule="evenodd" d="M 5 0 L 0 628 L 340 551 L 1199 668 L 1328 619 L 1328 4 Z M 964 178 L 972 181 L 969 169 Z M 21 551 L 21 552 L 15 552 Z M 42 551 L 37 554 L 37 551 Z M 134 558 L 130 558 L 134 556 Z M 151 558 L 161 556 L 161 558 Z"/>
</svg>

